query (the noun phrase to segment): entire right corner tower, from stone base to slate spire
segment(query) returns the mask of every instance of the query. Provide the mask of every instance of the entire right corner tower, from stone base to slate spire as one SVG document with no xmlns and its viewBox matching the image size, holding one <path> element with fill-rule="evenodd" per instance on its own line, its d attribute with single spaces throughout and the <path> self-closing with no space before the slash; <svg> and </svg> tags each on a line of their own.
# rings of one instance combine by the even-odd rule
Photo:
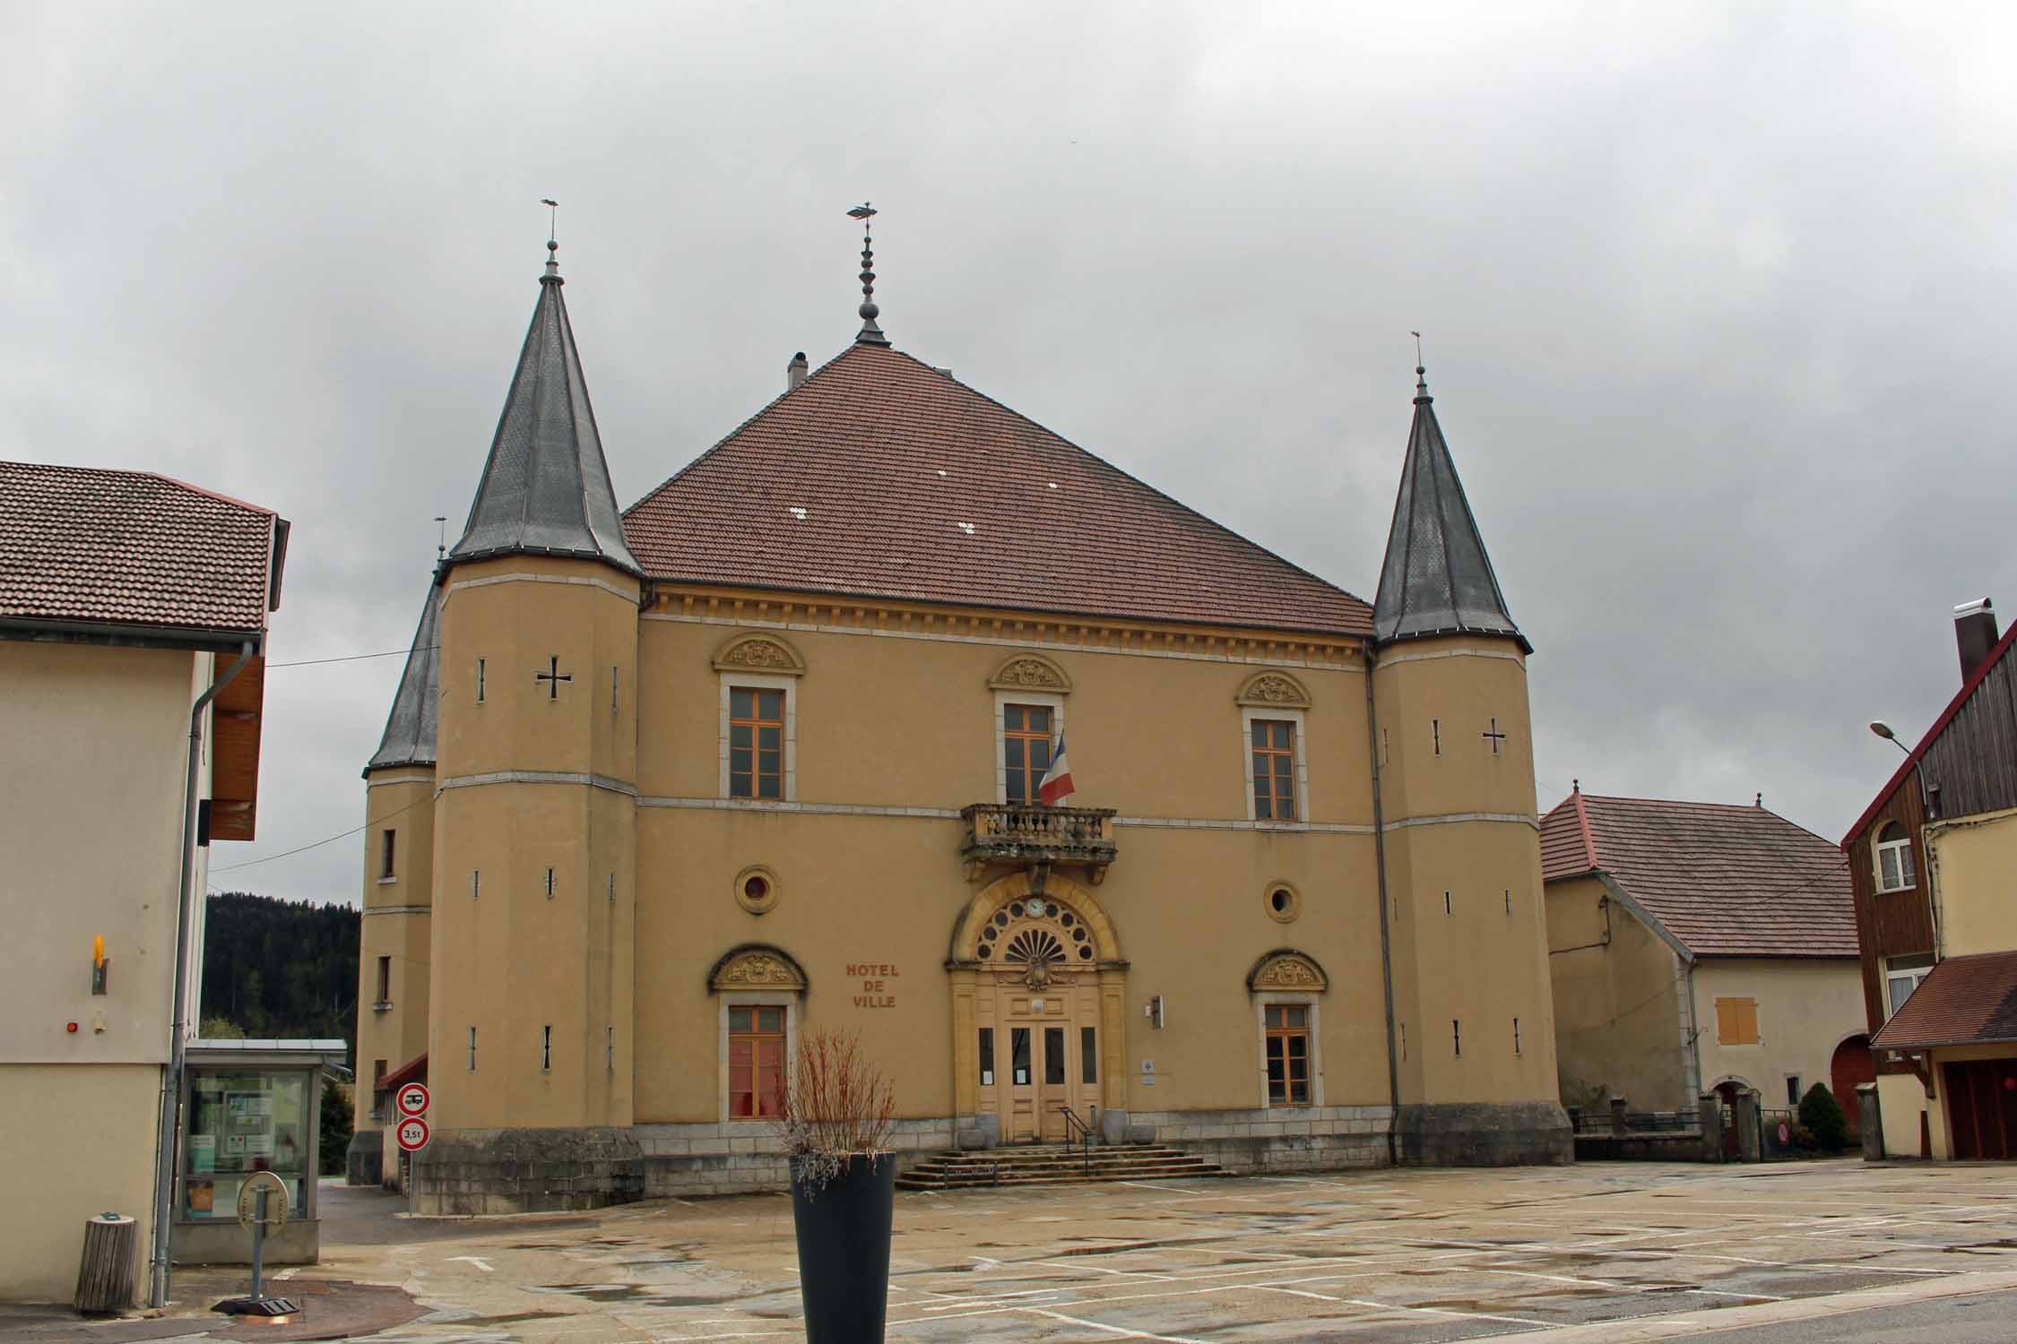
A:
<svg viewBox="0 0 2017 1344">
<path fill-rule="evenodd" d="M 1396 1157 L 1571 1159 L 1555 1076 L 1527 655 L 1416 369 L 1374 602 Z"/>
</svg>

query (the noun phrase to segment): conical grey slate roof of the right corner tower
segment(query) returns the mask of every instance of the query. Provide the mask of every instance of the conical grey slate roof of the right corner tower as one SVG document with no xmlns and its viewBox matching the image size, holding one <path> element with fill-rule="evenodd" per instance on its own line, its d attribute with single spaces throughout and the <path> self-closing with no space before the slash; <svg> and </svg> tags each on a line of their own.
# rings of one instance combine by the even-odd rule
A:
<svg viewBox="0 0 2017 1344">
<path fill-rule="evenodd" d="M 1420 367 L 1414 373 L 1414 429 L 1380 566 L 1374 637 L 1386 645 L 1420 635 L 1509 635 L 1533 653 L 1499 592 L 1478 520 L 1456 480 L 1450 445 L 1442 441 L 1428 381 Z"/>
</svg>

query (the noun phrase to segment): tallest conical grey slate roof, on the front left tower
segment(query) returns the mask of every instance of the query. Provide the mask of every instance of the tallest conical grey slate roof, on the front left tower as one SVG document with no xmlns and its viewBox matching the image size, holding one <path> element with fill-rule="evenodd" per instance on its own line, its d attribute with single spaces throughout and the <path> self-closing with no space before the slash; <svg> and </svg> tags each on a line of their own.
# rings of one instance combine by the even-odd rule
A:
<svg viewBox="0 0 2017 1344">
<path fill-rule="evenodd" d="M 547 244 L 532 328 L 524 334 L 470 522 L 448 558 L 583 556 L 641 574 L 623 542 L 589 385 L 561 300 L 561 268 L 551 258 L 555 246 Z"/>
</svg>

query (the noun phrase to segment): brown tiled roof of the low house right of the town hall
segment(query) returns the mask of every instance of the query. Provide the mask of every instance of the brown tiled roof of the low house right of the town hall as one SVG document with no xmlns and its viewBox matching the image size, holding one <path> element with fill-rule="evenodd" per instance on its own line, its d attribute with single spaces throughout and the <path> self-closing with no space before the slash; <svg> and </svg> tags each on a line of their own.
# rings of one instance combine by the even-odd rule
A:
<svg viewBox="0 0 2017 1344">
<path fill-rule="evenodd" d="M 1842 850 L 1775 812 L 1573 792 L 1541 818 L 1541 877 L 1601 870 L 1696 957 L 1854 957 Z"/>
</svg>

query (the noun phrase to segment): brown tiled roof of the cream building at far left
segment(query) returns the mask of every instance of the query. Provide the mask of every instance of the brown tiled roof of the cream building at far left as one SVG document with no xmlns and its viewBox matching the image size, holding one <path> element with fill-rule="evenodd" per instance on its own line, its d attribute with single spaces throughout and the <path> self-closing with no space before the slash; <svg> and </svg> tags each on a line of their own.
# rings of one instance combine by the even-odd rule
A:
<svg viewBox="0 0 2017 1344">
<path fill-rule="evenodd" d="M 0 461 L 0 621 L 264 631 L 276 524 L 151 472 Z"/>
</svg>

